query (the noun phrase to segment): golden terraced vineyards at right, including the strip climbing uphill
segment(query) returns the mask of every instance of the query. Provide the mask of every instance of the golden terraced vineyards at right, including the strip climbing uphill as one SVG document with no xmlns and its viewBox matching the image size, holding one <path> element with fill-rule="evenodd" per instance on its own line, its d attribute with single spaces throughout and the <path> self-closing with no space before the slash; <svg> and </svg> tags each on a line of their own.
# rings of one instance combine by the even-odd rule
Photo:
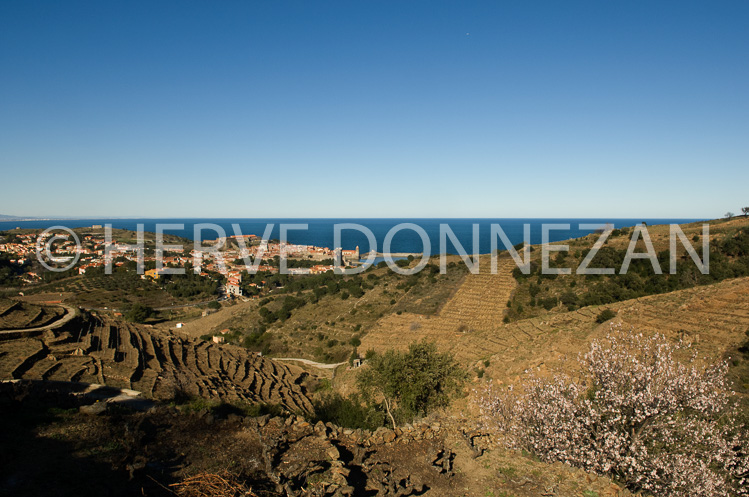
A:
<svg viewBox="0 0 749 497">
<path fill-rule="evenodd" d="M 467 275 L 437 316 L 403 313 L 382 318 L 362 338 L 360 350 L 403 349 L 427 338 L 464 364 L 479 367 L 478 361 L 489 359 L 487 372 L 492 378 L 513 381 L 530 369 L 565 368 L 564 364 L 576 362 L 590 340 L 610 326 L 596 323 L 605 308 L 617 311 L 614 322 L 626 328 L 684 338 L 712 360 L 720 360 L 744 340 L 749 329 L 749 278 L 504 324 L 505 306 L 514 289 L 514 263 L 500 260 L 497 275 L 483 274 L 488 267 L 482 260 L 482 274 Z"/>
</svg>

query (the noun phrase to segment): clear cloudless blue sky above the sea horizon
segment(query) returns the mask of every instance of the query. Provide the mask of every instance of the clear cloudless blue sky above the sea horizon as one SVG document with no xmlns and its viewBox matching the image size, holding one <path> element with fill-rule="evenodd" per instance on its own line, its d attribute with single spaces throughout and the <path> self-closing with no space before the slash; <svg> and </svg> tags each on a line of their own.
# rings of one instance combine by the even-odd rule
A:
<svg viewBox="0 0 749 497">
<path fill-rule="evenodd" d="M 719 217 L 749 2 L 0 2 L 0 213 Z"/>
</svg>

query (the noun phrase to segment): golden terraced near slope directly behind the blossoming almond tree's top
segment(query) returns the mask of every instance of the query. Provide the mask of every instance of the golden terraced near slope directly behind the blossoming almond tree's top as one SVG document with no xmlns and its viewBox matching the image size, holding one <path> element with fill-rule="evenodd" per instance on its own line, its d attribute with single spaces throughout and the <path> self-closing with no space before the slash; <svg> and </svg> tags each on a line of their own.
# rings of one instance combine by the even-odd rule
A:
<svg viewBox="0 0 749 497">
<path fill-rule="evenodd" d="M 597 324 L 596 316 L 604 307 L 617 311 L 617 317 Z M 588 343 L 605 334 L 612 323 L 684 339 L 709 361 L 721 360 L 726 351 L 746 339 L 749 278 L 500 323 L 491 330 L 455 337 L 443 346 L 466 363 L 489 359 L 490 376 L 513 381 L 531 369 L 568 370 L 570 360 L 587 350 Z"/>
</svg>

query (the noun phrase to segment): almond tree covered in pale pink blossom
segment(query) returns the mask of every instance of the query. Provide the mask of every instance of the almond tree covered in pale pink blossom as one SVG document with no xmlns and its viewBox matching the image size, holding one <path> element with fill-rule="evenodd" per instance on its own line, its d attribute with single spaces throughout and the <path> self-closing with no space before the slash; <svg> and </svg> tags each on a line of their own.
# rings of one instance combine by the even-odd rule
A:
<svg viewBox="0 0 749 497">
<path fill-rule="evenodd" d="M 582 379 L 531 377 L 488 390 L 480 407 L 510 448 L 612 477 L 658 496 L 749 495 L 749 444 L 732 421 L 725 364 L 699 367 L 688 345 L 612 325 L 579 358 Z"/>
</svg>

